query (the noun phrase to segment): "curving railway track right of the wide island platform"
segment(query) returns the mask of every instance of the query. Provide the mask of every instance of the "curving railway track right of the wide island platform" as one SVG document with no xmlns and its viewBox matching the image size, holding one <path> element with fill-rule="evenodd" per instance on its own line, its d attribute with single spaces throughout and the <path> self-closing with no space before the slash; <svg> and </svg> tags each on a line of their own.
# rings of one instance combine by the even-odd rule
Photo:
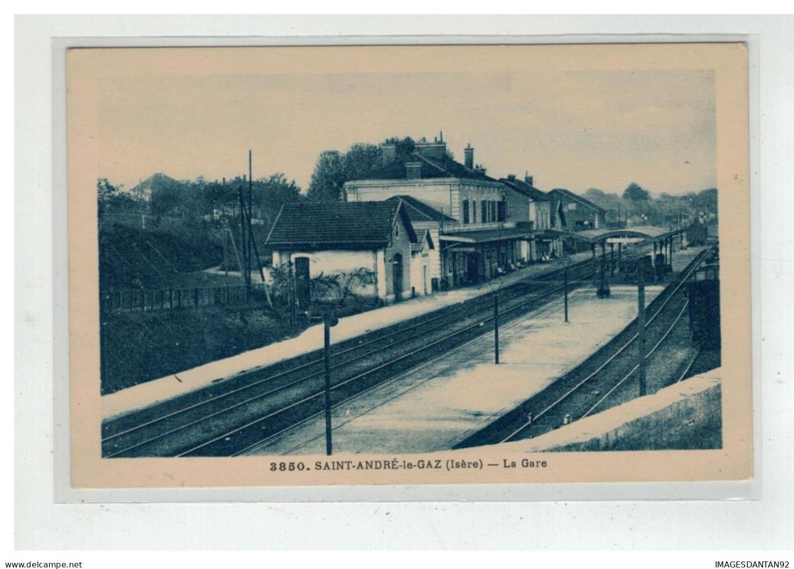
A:
<svg viewBox="0 0 794 569">
<path fill-rule="evenodd" d="M 708 248 L 700 252 L 681 272 L 679 279 L 646 307 L 646 345 L 650 346 L 645 355 L 646 362 L 657 355 L 676 327 L 685 324 L 688 299 L 683 294 L 684 283 L 710 251 L 711 248 Z M 499 444 L 539 436 L 611 406 L 622 390 L 634 388 L 631 379 L 636 378 L 639 367 L 636 326 L 635 319 L 580 366 L 491 425 L 468 436 L 454 448 Z M 692 359 L 692 363 L 695 359 Z M 683 374 L 671 377 L 670 383 L 687 377 L 691 373 L 692 363 Z M 675 373 L 675 370 L 671 370 L 671 373 Z M 621 395 L 625 397 L 625 393 Z"/>
</svg>

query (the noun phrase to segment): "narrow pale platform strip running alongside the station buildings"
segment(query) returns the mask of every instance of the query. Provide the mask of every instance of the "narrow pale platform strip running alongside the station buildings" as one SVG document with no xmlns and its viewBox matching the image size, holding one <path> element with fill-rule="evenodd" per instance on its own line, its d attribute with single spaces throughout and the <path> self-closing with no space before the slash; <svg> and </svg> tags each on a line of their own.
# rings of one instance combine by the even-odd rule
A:
<svg viewBox="0 0 794 569">
<path fill-rule="evenodd" d="M 581 252 L 569 258 L 576 263 L 590 259 L 591 253 Z M 523 267 L 501 277 L 502 286 L 508 286 L 525 279 L 534 279 L 546 272 L 559 268 L 561 268 L 559 260 Z M 340 318 L 339 324 L 332 330 L 331 341 L 348 340 L 372 330 L 385 328 L 400 321 L 421 316 L 483 294 L 491 294 L 491 286 L 488 283 L 437 292 L 425 297 L 410 298 L 398 304 Z M 314 325 L 295 338 L 283 340 L 276 344 L 268 344 L 262 348 L 237 354 L 237 356 L 218 359 L 190 370 L 178 371 L 164 378 L 153 379 L 112 394 L 103 395 L 102 418 L 109 419 L 136 409 L 143 409 L 155 403 L 189 393 L 192 390 L 200 389 L 218 379 L 229 379 L 247 371 L 278 363 L 284 359 L 314 352 L 322 349 L 322 347 L 323 326 L 322 324 Z"/>
</svg>

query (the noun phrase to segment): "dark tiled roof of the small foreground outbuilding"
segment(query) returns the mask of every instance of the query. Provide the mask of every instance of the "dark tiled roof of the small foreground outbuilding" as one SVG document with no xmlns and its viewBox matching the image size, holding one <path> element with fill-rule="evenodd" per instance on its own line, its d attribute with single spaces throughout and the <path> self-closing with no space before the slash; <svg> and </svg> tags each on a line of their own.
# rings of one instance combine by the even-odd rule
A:
<svg viewBox="0 0 794 569">
<path fill-rule="evenodd" d="M 286 203 L 266 244 L 312 249 L 385 247 L 398 215 L 414 243 L 416 234 L 403 202 Z"/>
</svg>

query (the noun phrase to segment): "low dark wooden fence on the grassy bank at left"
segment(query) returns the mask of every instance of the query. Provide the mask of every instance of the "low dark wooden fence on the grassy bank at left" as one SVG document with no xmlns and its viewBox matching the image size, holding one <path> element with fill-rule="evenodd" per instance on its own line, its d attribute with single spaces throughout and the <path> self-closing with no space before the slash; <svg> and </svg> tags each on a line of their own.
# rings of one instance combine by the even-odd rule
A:
<svg viewBox="0 0 794 569">
<path fill-rule="evenodd" d="M 254 284 L 252 292 L 264 293 Z M 149 312 L 152 310 L 196 309 L 206 306 L 241 305 L 249 301 L 245 286 L 168 288 L 160 290 L 113 290 L 100 294 L 102 313 Z"/>
</svg>

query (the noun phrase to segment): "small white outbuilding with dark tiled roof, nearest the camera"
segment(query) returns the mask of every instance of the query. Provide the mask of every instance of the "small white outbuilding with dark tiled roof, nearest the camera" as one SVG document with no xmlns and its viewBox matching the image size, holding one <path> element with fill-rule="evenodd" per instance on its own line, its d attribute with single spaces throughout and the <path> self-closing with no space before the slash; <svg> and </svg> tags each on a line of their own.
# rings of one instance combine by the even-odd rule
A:
<svg viewBox="0 0 794 569">
<path fill-rule="evenodd" d="M 419 240 L 402 201 L 287 203 L 265 243 L 273 267 L 295 275 L 299 306 L 309 302 L 310 283 L 319 275 L 371 275 L 360 279 L 355 294 L 383 302 L 407 298 L 414 244 Z"/>
</svg>

